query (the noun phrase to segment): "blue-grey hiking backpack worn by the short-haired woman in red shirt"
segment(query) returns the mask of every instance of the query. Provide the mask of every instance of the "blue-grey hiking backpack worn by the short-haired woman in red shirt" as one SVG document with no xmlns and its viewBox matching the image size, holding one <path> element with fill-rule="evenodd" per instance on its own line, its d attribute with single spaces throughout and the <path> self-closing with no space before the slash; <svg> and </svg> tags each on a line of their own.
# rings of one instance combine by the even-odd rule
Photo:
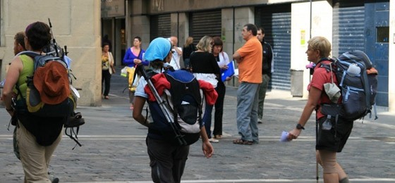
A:
<svg viewBox="0 0 395 183">
<path fill-rule="evenodd" d="M 368 113 L 371 117 L 377 94 L 377 70 L 370 59 L 363 51 L 347 51 L 335 58 L 332 65 L 341 89 L 340 115 L 348 120 L 358 120 Z M 328 65 L 322 67 L 330 70 Z"/>
</svg>

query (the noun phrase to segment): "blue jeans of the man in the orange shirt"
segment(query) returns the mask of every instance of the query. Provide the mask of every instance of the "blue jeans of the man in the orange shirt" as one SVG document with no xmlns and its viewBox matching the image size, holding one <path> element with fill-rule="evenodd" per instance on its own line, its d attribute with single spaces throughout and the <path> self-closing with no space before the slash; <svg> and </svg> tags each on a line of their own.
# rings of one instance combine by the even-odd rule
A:
<svg viewBox="0 0 395 183">
<path fill-rule="evenodd" d="M 257 83 L 241 82 L 237 90 L 237 129 L 241 139 L 259 142 L 257 111 L 259 86 Z"/>
</svg>

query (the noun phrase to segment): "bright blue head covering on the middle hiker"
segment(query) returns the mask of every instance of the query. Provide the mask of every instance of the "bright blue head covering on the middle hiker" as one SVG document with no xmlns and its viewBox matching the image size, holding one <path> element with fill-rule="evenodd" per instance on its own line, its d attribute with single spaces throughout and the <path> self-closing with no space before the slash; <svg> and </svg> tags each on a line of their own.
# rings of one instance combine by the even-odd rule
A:
<svg viewBox="0 0 395 183">
<path fill-rule="evenodd" d="M 166 56 L 171 50 L 171 45 L 169 40 L 163 37 L 158 37 L 152 40 L 150 46 L 148 46 L 147 51 L 145 51 L 144 59 L 145 61 L 164 61 Z"/>
</svg>

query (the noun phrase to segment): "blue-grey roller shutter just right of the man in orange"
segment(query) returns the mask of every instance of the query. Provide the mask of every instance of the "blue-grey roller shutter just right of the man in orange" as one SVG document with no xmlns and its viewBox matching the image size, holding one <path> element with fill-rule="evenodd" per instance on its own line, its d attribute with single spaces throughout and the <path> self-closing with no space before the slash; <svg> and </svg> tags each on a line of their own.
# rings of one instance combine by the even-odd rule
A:
<svg viewBox="0 0 395 183">
<path fill-rule="evenodd" d="M 265 41 L 273 48 L 273 89 L 291 89 L 291 4 L 255 8 L 255 24 L 265 28 Z"/>
</svg>

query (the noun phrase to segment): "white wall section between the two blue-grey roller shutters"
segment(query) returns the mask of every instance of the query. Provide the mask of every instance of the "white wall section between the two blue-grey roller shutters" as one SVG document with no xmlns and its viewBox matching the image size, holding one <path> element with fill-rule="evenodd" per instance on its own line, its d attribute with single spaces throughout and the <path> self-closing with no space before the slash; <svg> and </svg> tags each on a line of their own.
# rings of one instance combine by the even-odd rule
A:
<svg viewBox="0 0 395 183">
<path fill-rule="evenodd" d="M 311 9 L 311 37 L 326 37 L 332 43 L 332 6 L 327 1 L 316 1 Z M 294 3 L 291 5 L 291 70 L 303 70 L 303 98 L 308 97 L 310 82 L 310 70 L 305 69 L 310 63 L 305 53 L 309 39 L 310 2 Z"/>
</svg>

